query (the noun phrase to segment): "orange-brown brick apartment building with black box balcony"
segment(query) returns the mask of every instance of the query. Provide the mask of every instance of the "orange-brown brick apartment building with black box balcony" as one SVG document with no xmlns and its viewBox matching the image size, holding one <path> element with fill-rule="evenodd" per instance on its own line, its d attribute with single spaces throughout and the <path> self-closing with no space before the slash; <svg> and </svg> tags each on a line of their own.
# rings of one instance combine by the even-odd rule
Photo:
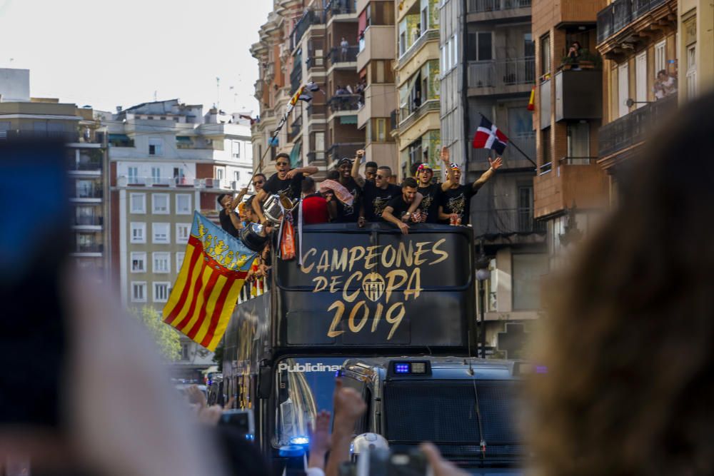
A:
<svg viewBox="0 0 714 476">
<path fill-rule="evenodd" d="M 607 206 L 607 177 L 597 163 L 605 82 L 595 46 L 603 8 L 605 0 L 543 0 L 532 9 L 538 163 L 534 208 L 535 218 L 547 228 L 551 270 Z M 577 64 L 568 57 L 575 42 L 581 46 Z"/>
</svg>

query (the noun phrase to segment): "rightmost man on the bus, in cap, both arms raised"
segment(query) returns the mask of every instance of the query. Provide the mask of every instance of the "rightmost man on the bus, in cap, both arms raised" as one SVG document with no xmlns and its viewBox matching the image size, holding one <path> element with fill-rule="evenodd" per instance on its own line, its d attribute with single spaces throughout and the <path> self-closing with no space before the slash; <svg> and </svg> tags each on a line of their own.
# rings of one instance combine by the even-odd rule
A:
<svg viewBox="0 0 714 476">
<path fill-rule="evenodd" d="M 448 150 L 446 151 L 446 156 L 444 156 L 442 149 L 441 160 L 448 162 Z M 478 189 L 493 177 L 493 174 L 496 173 L 498 168 L 501 168 L 503 159 L 501 157 L 497 157 L 495 160 L 488 158 L 488 163 L 491 167 L 482 173 L 478 180 L 470 185 L 460 184 L 461 168 L 456 163 L 452 163 L 451 166 L 449 166 L 447 182 L 451 185 L 448 189 L 443 191 L 441 195 L 441 204 L 439 206 L 440 220 L 468 225 L 468 219 L 471 215 L 471 197 L 476 195 Z"/>
</svg>

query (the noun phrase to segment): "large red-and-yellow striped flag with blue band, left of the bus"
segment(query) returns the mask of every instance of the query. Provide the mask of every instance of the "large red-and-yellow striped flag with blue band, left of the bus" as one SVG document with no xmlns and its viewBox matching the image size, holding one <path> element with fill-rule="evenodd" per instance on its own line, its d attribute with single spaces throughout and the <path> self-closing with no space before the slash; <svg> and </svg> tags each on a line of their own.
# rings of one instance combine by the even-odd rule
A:
<svg viewBox="0 0 714 476">
<path fill-rule="evenodd" d="M 193 213 L 183 265 L 164 306 L 164 323 L 215 350 L 256 253 L 200 213 Z"/>
</svg>

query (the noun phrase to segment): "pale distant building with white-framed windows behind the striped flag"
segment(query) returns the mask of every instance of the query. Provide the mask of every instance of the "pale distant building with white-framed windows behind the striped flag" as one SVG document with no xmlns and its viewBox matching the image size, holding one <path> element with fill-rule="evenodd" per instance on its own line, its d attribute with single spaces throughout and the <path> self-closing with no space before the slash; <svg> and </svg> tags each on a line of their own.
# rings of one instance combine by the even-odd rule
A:
<svg viewBox="0 0 714 476">
<path fill-rule="evenodd" d="M 118 108 L 121 109 L 121 108 Z M 218 218 L 218 193 L 248 186 L 249 121 L 177 99 L 121 109 L 105 121 L 111 181 L 111 262 L 127 306 L 164 308 L 181 269 L 193 212 Z M 181 336 L 175 376 L 211 354 Z"/>
</svg>

